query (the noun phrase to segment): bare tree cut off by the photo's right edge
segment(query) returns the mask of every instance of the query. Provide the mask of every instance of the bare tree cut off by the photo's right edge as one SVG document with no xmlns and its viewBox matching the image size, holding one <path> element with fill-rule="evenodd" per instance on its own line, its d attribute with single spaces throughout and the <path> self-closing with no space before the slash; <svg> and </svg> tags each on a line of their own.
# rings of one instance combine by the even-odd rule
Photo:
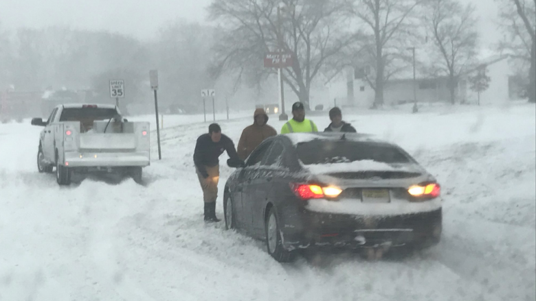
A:
<svg viewBox="0 0 536 301">
<path fill-rule="evenodd" d="M 502 50 L 511 52 L 514 58 L 528 62 L 528 101 L 536 102 L 536 0 L 499 0 L 500 27 L 505 40 Z"/>
</svg>

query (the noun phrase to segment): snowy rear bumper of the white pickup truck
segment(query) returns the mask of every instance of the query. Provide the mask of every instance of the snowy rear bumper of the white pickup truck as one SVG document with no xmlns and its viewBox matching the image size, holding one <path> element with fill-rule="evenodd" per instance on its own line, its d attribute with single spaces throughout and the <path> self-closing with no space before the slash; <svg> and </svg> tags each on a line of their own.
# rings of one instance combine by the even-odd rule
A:
<svg viewBox="0 0 536 301">
<path fill-rule="evenodd" d="M 146 167 L 150 165 L 150 157 L 149 152 L 66 152 L 65 162 L 69 167 Z"/>
</svg>

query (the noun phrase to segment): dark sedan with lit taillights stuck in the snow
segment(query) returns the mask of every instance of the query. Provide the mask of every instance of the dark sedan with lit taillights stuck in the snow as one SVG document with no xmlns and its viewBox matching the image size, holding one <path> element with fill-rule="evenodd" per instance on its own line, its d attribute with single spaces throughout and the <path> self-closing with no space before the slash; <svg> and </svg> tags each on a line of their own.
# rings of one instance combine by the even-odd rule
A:
<svg viewBox="0 0 536 301">
<path fill-rule="evenodd" d="M 225 183 L 225 226 L 277 261 L 305 248 L 389 250 L 439 242 L 440 185 L 401 147 L 362 134 L 263 141 Z"/>
</svg>

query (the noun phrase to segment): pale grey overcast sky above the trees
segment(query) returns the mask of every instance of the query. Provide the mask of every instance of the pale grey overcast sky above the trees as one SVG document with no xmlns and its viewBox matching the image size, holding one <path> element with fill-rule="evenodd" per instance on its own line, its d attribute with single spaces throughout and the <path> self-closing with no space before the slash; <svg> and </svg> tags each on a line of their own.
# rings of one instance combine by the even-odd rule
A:
<svg viewBox="0 0 536 301">
<path fill-rule="evenodd" d="M 473 2 L 480 17 L 484 46 L 495 42 L 497 4 L 494 0 Z M 16 27 L 71 25 L 81 29 L 107 29 L 148 39 L 167 21 L 206 21 L 210 0 L 0 0 L 0 24 Z"/>
</svg>

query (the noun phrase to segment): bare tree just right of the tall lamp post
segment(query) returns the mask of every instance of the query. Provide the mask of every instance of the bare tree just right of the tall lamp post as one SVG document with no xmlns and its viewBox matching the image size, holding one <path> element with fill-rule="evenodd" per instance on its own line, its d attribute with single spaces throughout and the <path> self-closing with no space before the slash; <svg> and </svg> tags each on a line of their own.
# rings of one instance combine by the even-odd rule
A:
<svg viewBox="0 0 536 301">
<path fill-rule="evenodd" d="M 475 7 L 470 3 L 464 7 L 457 0 L 432 0 L 427 8 L 431 15 L 427 27 L 441 58 L 438 68 L 449 77 L 450 100 L 454 104 L 458 77 L 472 66 L 478 50 Z"/>
</svg>

